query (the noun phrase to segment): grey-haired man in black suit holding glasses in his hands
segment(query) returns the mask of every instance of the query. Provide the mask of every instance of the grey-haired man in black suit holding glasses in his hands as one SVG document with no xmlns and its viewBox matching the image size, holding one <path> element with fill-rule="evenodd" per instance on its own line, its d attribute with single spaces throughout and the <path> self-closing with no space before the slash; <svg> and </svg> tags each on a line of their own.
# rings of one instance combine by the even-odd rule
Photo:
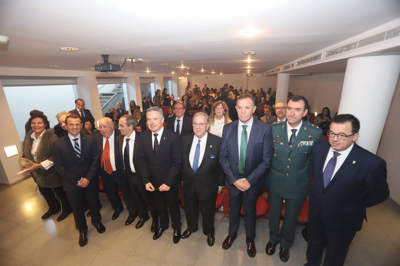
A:
<svg viewBox="0 0 400 266">
<path fill-rule="evenodd" d="M 181 185 L 178 174 L 182 167 L 182 145 L 179 135 L 164 128 L 162 109 L 153 106 L 146 112 L 150 130 L 140 134 L 140 172 L 147 191 L 151 191 L 158 215 L 160 227 L 153 239 L 160 238 L 168 229 L 170 210 L 174 234 L 172 240 L 180 240 L 180 209 L 178 206 L 178 188 Z"/>
</svg>

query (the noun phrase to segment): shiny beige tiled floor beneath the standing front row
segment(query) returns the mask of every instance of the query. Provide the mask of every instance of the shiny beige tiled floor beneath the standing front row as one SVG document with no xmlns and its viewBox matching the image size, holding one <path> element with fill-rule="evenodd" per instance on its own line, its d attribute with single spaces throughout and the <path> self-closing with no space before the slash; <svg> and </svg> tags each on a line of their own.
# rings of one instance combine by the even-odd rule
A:
<svg viewBox="0 0 400 266">
<path fill-rule="evenodd" d="M 31 179 L 14 185 L 0 186 L 0 265 L 303 265 L 306 262 L 307 243 L 296 228 L 290 259 L 281 262 L 278 252 L 265 254 L 268 242 L 268 220 L 257 219 L 255 258 L 246 254 L 246 236 L 242 218 L 238 238 L 229 250 L 223 250 L 222 241 L 228 233 L 228 216 L 215 215 L 216 243 L 209 247 L 200 230 L 190 238 L 172 243 L 172 228 L 154 241 L 150 221 L 135 229 L 136 221 L 125 226 L 128 213 L 111 221 L 113 213 L 108 199 L 100 193 L 104 234 L 98 234 L 88 219 L 88 244 L 78 245 L 78 231 L 72 214 L 56 222 L 57 215 L 46 221 L 40 217 L 48 207 L 42 195 L 35 192 Z M 182 232 L 186 229 L 184 210 Z M 400 206 L 391 199 L 367 209 L 368 223 L 356 234 L 346 259 L 346 265 L 400 265 Z"/>
</svg>

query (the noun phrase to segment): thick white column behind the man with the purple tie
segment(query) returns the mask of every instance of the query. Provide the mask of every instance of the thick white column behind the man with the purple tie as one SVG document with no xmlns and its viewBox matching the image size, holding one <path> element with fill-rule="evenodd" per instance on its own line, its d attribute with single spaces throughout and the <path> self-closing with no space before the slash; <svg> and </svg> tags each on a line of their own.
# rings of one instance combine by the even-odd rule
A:
<svg viewBox="0 0 400 266">
<path fill-rule="evenodd" d="M 338 114 L 353 114 L 360 120 L 357 144 L 374 154 L 378 149 L 399 73 L 400 55 L 347 60 Z"/>
</svg>

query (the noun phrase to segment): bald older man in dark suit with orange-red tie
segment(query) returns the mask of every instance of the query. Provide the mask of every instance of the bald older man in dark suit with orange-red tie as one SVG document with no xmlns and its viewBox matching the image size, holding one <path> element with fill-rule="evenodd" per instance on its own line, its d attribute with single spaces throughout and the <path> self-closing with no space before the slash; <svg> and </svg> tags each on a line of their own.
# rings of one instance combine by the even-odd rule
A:
<svg viewBox="0 0 400 266">
<path fill-rule="evenodd" d="M 104 190 L 111 202 L 112 209 L 114 209 L 111 220 L 117 219 L 124 210 L 120 195 L 118 195 L 118 189 L 120 189 L 129 211 L 125 225 L 130 225 L 136 216 L 138 216 L 138 212 L 121 167 L 121 157 L 118 149 L 118 141 L 116 140 L 119 132 L 114 130 L 114 122 L 108 117 L 100 119 L 99 132 L 100 134 L 94 136 L 99 151 L 100 168 L 98 175 L 101 176 Z"/>
</svg>

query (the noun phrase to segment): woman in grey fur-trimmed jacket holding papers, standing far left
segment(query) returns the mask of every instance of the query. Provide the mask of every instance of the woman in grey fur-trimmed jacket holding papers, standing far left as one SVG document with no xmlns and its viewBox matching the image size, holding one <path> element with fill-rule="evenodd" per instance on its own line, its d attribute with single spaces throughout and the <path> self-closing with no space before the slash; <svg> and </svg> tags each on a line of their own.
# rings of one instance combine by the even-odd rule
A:
<svg viewBox="0 0 400 266">
<path fill-rule="evenodd" d="M 50 128 L 50 123 L 44 114 L 34 114 L 29 118 L 29 124 L 32 130 L 25 136 L 22 156 L 28 159 L 32 166 L 25 169 L 32 169 L 30 170 L 32 177 L 49 207 L 42 215 L 42 219 L 48 219 L 61 211 L 57 217 L 59 222 L 64 220 L 72 209 L 62 188 L 62 177 L 53 167 L 51 148 L 58 137 Z"/>
</svg>

